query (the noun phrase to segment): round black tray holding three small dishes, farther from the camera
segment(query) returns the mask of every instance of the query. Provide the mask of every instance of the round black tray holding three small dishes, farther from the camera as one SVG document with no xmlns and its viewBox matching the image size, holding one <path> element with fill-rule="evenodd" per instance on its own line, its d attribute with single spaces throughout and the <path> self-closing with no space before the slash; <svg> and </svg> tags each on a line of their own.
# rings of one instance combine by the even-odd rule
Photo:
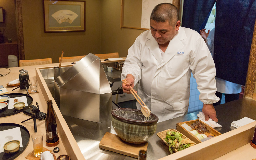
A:
<svg viewBox="0 0 256 160">
<path fill-rule="evenodd" d="M 29 108 L 29 106 L 33 103 L 33 98 L 30 95 L 27 95 L 27 94 L 23 94 L 23 93 L 10 93 L 10 94 L 4 94 L 4 95 L 10 96 L 10 98 L 27 96 L 28 105 L 25 106 L 22 110 L 16 110 L 14 108 L 13 109 L 8 109 L 8 105 L 9 105 L 8 104 L 4 109 L 0 110 L 0 117 L 6 117 L 6 116 L 10 116 L 10 115 L 14 115 L 14 114 L 23 112 L 24 110 Z M 9 100 L 7 100 L 5 102 L 8 103 L 8 101 Z"/>
</svg>

